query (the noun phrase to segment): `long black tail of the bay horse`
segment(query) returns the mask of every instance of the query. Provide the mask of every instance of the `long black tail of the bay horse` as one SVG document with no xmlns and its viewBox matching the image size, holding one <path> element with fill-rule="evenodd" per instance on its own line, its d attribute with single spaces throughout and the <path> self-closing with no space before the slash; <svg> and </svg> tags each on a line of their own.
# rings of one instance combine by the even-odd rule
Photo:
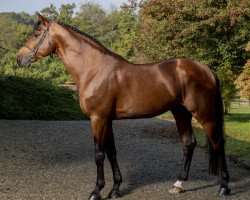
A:
<svg viewBox="0 0 250 200">
<path fill-rule="evenodd" d="M 224 117 L 223 117 L 223 101 L 221 97 L 220 82 L 217 76 L 216 79 L 216 92 L 215 92 L 215 120 L 216 132 L 214 138 L 219 141 L 219 149 L 214 149 L 211 142 L 207 139 L 208 155 L 209 155 L 209 172 L 214 175 L 219 174 L 219 154 L 224 153 Z"/>
</svg>

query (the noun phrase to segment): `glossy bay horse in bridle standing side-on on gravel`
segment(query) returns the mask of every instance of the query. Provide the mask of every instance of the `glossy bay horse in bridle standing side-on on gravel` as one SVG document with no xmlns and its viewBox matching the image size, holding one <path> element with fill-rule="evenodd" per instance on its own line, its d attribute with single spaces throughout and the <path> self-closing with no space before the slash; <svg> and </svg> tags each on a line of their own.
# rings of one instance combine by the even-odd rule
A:
<svg viewBox="0 0 250 200">
<path fill-rule="evenodd" d="M 95 144 L 97 181 L 89 200 L 100 200 L 105 185 L 104 159 L 112 167 L 114 185 L 108 198 L 121 196 L 122 176 L 116 158 L 112 121 L 146 118 L 171 111 L 183 145 L 183 160 L 171 193 L 184 191 L 196 140 L 191 119 L 203 127 L 209 144 L 209 169 L 220 172 L 220 195 L 228 195 L 223 105 L 217 77 L 206 65 L 187 58 L 133 64 L 78 29 L 37 13 L 34 33 L 17 53 L 22 67 L 56 54 L 77 84 L 82 111 L 90 118 Z"/>
</svg>

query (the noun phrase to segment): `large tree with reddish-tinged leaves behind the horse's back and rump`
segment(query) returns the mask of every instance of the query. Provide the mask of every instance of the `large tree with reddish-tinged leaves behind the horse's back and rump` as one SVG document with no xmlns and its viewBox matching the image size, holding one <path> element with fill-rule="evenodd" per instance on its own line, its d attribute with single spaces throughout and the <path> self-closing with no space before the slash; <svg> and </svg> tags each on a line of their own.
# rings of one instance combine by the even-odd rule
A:
<svg viewBox="0 0 250 200">
<path fill-rule="evenodd" d="M 216 71 L 222 82 L 225 111 L 236 90 L 234 81 L 249 55 L 249 0 L 146 0 L 140 10 L 136 52 L 147 61 L 189 57 Z"/>
</svg>

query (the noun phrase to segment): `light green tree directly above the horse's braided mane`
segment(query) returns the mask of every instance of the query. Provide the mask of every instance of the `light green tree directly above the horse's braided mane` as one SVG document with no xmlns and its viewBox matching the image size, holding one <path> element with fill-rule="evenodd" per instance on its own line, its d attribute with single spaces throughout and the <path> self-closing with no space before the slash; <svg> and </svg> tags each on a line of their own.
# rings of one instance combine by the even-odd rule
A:
<svg viewBox="0 0 250 200">
<path fill-rule="evenodd" d="M 113 8 L 109 13 L 98 3 L 86 2 L 81 4 L 73 24 L 100 40 L 111 51 L 133 60 L 138 24 L 136 9 L 135 0 L 123 4 L 120 9 Z"/>
</svg>

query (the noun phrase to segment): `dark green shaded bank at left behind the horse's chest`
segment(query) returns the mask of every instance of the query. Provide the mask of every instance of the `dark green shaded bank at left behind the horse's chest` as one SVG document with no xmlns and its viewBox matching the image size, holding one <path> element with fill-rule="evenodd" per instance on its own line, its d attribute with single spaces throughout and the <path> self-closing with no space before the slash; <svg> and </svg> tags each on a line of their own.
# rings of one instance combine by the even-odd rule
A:
<svg viewBox="0 0 250 200">
<path fill-rule="evenodd" d="M 0 119 L 86 119 L 76 92 L 44 80 L 0 75 Z"/>
</svg>

